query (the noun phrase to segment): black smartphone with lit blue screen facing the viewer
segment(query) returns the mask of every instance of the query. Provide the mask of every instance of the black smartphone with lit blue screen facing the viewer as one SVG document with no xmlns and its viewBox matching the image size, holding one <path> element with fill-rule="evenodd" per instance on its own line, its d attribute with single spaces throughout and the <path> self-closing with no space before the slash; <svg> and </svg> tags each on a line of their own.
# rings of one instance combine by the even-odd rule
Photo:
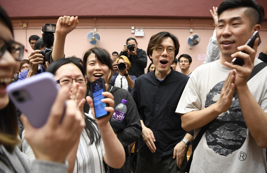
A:
<svg viewBox="0 0 267 173">
<path fill-rule="evenodd" d="M 109 112 L 105 110 L 105 107 L 108 104 L 101 101 L 102 98 L 105 98 L 102 95 L 102 92 L 106 91 L 104 78 L 99 78 L 91 83 L 91 97 L 93 99 L 94 108 L 95 108 L 95 118 L 99 119 L 104 116 L 109 115 Z"/>
</svg>

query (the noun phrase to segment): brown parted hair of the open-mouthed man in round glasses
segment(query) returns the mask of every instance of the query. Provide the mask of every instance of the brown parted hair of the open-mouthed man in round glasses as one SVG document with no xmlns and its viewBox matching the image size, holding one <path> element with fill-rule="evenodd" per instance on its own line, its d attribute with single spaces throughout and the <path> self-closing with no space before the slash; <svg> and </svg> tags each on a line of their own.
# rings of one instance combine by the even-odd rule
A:
<svg viewBox="0 0 267 173">
<path fill-rule="evenodd" d="M 178 38 L 175 35 L 173 35 L 169 32 L 166 32 L 166 31 L 159 32 L 158 34 L 151 36 L 151 38 L 148 42 L 147 50 L 146 50 L 146 54 L 152 62 L 153 62 L 153 60 L 150 56 L 152 56 L 153 49 L 158 47 L 161 44 L 161 41 L 165 37 L 170 37 L 172 39 L 172 41 L 174 42 L 174 49 L 175 49 L 174 50 L 174 57 L 176 57 L 177 54 L 179 53 L 180 44 L 179 44 Z"/>
</svg>

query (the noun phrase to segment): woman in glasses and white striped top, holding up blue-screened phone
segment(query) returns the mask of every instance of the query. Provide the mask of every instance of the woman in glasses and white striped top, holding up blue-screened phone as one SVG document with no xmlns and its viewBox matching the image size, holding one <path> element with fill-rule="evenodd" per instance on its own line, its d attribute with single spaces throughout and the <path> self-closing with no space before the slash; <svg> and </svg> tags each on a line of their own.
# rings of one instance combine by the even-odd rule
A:
<svg viewBox="0 0 267 173">
<path fill-rule="evenodd" d="M 87 78 L 85 77 L 86 72 L 83 65 L 79 63 L 79 58 L 71 57 L 59 59 L 51 63 L 46 69 L 46 72 L 55 75 L 55 82 L 58 83 L 59 86 L 69 89 L 68 98 L 77 102 L 85 98 Z M 106 97 L 109 99 L 107 103 L 110 106 L 114 105 L 112 94 L 108 92 L 107 94 Z M 83 105 L 84 102 L 81 105 L 82 109 Z M 110 107 L 110 109 L 114 111 L 113 108 Z M 109 111 L 110 116 L 113 114 L 113 111 Z M 109 124 L 110 116 L 95 120 L 92 114 L 84 113 L 86 127 L 82 131 L 79 143 L 76 143 L 76 147 L 73 148 L 67 158 L 69 162 L 68 172 L 87 172 L 86 170 L 89 169 L 94 170 L 94 172 L 104 172 L 103 161 L 108 163 L 111 167 L 122 166 L 123 157 L 122 159 L 110 159 L 110 155 L 112 155 L 112 158 L 116 155 L 119 157 L 125 155 L 121 142 L 118 140 Z M 98 126 L 98 124 L 100 125 Z M 103 126 L 101 124 L 106 125 Z M 35 155 L 28 145 L 28 142 L 24 140 L 24 135 L 22 135 L 22 139 L 23 151 L 34 159 Z"/>
</svg>

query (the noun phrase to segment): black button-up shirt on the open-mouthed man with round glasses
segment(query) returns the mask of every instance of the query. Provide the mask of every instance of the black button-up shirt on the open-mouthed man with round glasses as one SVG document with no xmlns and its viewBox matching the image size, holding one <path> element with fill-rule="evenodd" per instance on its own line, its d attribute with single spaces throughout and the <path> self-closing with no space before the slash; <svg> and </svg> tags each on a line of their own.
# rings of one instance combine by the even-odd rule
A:
<svg viewBox="0 0 267 173">
<path fill-rule="evenodd" d="M 173 154 L 177 143 L 187 133 L 181 126 L 181 117 L 175 113 L 189 77 L 171 70 L 164 80 L 155 77 L 155 71 L 135 80 L 131 95 L 135 100 L 140 120 L 155 136 L 157 161 L 162 156 Z M 151 151 L 139 138 L 139 154 L 151 158 Z"/>
</svg>

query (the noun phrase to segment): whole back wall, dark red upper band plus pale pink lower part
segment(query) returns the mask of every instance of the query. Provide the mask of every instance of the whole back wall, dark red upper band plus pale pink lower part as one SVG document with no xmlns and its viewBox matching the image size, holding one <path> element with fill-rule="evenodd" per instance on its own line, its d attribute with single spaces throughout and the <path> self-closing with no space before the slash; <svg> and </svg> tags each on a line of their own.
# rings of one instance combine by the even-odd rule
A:
<svg viewBox="0 0 267 173">
<path fill-rule="evenodd" d="M 213 34 L 213 20 L 209 10 L 212 6 L 219 6 L 222 0 L 135 0 L 135 1 L 106 1 L 106 0 L 78 0 L 50 2 L 32 0 L 0 0 L 1 6 L 13 19 L 15 39 L 22 42 L 29 50 L 24 58 L 32 51 L 28 38 L 31 35 L 41 36 L 41 26 L 45 23 L 56 24 L 57 18 L 62 15 L 79 16 L 79 25 L 66 38 L 66 56 L 76 55 L 82 57 L 84 51 L 92 47 L 86 36 L 89 31 L 97 28 L 101 35 L 98 46 L 106 48 L 110 53 L 120 52 L 128 37 L 135 37 L 131 33 L 131 26 L 144 28 L 144 37 L 135 37 L 138 47 L 146 50 L 150 36 L 160 31 L 169 31 L 176 35 L 180 41 L 179 54 L 187 53 L 193 58 L 191 71 L 201 65 L 198 54 L 206 54 L 206 46 Z M 261 6 L 267 9 L 266 0 L 257 0 Z M 267 12 L 265 13 L 267 14 Z M 262 44 L 258 53 L 267 43 L 267 20 L 262 24 Z M 22 27 L 27 23 L 27 28 Z M 198 46 L 189 49 L 187 38 L 191 33 L 201 37 Z M 148 65 L 150 60 L 148 60 Z M 180 69 L 178 67 L 178 69 Z"/>
</svg>

